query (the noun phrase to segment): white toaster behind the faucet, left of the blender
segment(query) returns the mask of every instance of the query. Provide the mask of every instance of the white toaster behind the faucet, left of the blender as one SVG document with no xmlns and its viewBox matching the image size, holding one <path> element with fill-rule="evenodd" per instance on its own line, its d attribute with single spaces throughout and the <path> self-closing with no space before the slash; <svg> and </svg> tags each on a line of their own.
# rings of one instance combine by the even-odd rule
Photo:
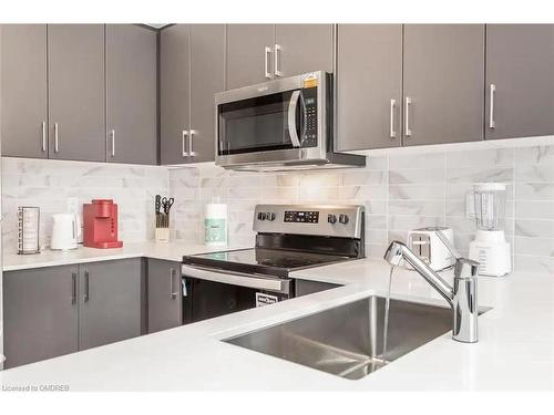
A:
<svg viewBox="0 0 554 415">
<path fill-rule="evenodd" d="M 417 253 L 433 271 L 441 271 L 454 266 L 455 258 L 439 239 L 440 231 L 450 243 L 454 245 L 454 231 L 452 228 L 427 227 L 413 229 L 408 234 L 408 247 Z"/>
</svg>

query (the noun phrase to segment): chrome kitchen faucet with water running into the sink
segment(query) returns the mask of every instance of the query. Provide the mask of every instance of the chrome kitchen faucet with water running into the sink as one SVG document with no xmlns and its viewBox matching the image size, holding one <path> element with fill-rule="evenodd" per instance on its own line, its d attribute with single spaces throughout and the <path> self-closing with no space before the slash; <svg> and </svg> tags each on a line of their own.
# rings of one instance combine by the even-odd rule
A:
<svg viewBox="0 0 554 415">
<path fill-rule="evenodd" d="M 384 252 L 384 260 L 393 267 L 403 261 L 412 266 L 452 308 L 452 338 L 459 342 L 476 343 L 479 262 L 462 258 L 440 230 L 437 235 L 455 258 L 453 288 L 402 242 L 392 241 Z"/>
</svg>

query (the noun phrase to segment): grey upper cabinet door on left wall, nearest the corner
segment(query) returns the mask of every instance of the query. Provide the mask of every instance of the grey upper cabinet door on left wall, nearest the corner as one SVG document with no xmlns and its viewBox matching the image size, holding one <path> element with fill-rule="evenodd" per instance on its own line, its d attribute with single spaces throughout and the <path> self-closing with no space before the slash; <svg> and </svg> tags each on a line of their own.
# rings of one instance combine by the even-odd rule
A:
<svg viewBox="0 0 554 415">
<path fill-rule="evenodd" d="M 106 25 L 106 160 L 157 163 L 157 34 Z"/>
</svg>

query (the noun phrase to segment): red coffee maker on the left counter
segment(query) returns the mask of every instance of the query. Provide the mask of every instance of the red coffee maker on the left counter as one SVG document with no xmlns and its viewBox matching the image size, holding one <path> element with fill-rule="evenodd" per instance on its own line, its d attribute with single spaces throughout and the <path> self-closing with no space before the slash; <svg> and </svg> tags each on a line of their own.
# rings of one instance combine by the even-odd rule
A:
<svg viewBox="0 0 554 415">
<path fill-rule="evenodd" d="M 121 248 L 117 240 L 117 205 L 112 199 L 94 199 L 83 205 L 83 245 L 90 248 Z"/>
</svg>

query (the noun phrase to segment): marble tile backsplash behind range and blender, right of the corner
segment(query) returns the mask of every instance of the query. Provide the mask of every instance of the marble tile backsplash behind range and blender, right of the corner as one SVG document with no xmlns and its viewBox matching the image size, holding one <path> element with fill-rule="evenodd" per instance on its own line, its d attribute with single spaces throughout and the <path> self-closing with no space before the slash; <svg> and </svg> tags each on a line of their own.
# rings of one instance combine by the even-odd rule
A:
<svg viewBox="0 0 554 415">
<path fill-rule="evenodd" d="M 178 200 L 173 237 L 202 241 L 204 206 L 214 199 L 228 204 L 229 240 L 242 243 L 254 241 L 259 203 L 363 204 L 370 257 L 423 226 L 452 227 L 466 253 L 475 224 L 465 215 L 465 195 L 475 181 L 503 181 L 514 268 L 554 274 L 554 145 L 473 147 L 370 154 L 363 169 L 334 172 L 236 173 L 213 164 L 171 169 L 170 190 Z"/>
</svg>

